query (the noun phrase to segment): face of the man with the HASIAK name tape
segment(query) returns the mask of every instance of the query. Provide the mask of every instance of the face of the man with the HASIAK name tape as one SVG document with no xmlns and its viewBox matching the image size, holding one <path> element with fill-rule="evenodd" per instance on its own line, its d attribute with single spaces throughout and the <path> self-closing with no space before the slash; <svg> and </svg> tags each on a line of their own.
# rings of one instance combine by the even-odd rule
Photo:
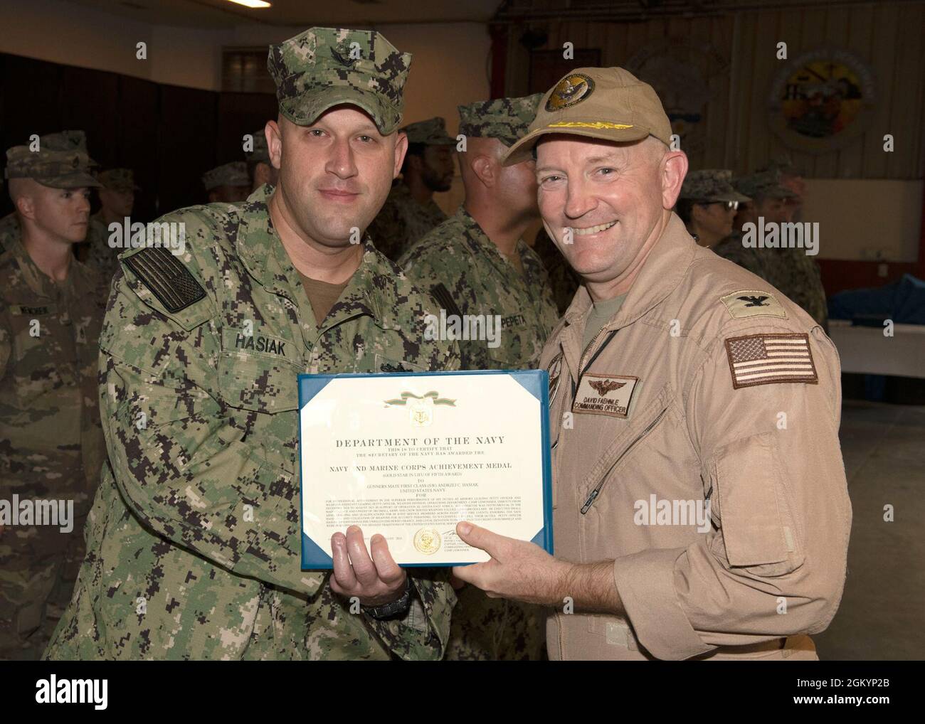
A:
<svg viewBox="0 0 925 724">
<path fill-rule="evenodd" d="M 349 246 L 351 229 L 364 231 L 385 203 L 407 138 L 383 136 L 372 118 L 349 105 L 331 108 L 311 126 L 280 117 L 278 129 L 270 153 L 292 224 L 320 245 Z"/>
</svg>

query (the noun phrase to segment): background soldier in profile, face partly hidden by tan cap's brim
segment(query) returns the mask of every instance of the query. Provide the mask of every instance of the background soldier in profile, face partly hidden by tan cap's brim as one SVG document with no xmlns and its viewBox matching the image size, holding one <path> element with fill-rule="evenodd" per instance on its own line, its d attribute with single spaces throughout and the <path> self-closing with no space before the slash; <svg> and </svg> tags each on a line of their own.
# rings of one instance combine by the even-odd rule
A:
<svg viewBox="0 0 925 724">
<path fill-rule="evenodd" d="M 465 202 L 400 261 L 413 282 L 442 285 L 448 315 L 500 317 L 499 346 L 460 342 L 469 370 L 535 367 L 546 337 L 559 321 L 539 258 L 521 235 L 539 215 L 535 163 L 501 166 L 500 159 L 536 116 L 540 93 L 461 105 L 460 154 Z M 546 648 L 546 613 L 536 606 L 488 598 L 475 586 L 457 592 L 447 659 L 540 659 Z"/>
</svg>

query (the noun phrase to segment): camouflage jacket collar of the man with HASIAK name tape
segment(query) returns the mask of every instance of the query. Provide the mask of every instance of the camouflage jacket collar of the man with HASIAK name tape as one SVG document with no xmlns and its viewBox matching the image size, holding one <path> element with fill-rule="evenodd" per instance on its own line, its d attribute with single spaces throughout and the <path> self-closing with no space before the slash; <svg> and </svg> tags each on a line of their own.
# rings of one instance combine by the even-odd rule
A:
<svg viewBox="0 0 925 724">
<path fill-rule="evenodd" d="M 274 187 L 264 185 L 255 190 L 240 206 L 236 248 L 241 263 L 265 288 L 287 297 L 304 310 L 302 319 L 310 318 L 305 311 L 310 308 L 302 288 L 302 278 L 292 264 L 289 254 L 270 218 L 269 202 Z M 381 283 L 376 279 L 392 276 L 397 272 L 388 268 L 388 260 L 381 257 L 372 241 L 363 240 L 363 253 L 359 268 L 351 276 L 350 283 L 331 307 L 325 319 L 325 326 L 337 325 L 355 316 L 368 315 L 379 326 L 386 325 L 383 318 L 383 303 L 377 290 Z M 314 314 L 312 315 L 314 318 Z M 315 320 L 317 324 L 320 320 Z"/>
</svg>

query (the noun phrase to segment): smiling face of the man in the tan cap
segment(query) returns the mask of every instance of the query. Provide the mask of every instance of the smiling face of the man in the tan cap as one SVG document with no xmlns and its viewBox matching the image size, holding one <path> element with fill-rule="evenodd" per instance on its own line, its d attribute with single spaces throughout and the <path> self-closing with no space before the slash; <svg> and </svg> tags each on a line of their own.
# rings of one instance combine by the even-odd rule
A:
<svg viewBox="0 0 925 724">
<path fill-rule="evenodd" d="M 685 173 L 684 153 L 651 138 L 615 143 L 550 134 L 536 145 L 540 215 L 587 282 L 606 284 L 640 263 L 667 223 Z"/>
</svg>

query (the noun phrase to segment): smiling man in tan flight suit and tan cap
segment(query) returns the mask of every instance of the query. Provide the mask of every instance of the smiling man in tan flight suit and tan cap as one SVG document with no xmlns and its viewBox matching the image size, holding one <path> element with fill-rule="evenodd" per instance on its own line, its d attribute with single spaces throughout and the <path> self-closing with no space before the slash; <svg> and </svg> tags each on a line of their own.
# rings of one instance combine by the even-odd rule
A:
<svg viewBox="0 0 925 724">
<path fill-rule="evenodd" d="M 544 226 L 583 279 L 540 362 L 556 558 L 461 522 L 492 558 L 454 572 L 555 609 L 553 659 L 815 659 L 851 527 L 838 355 L 672 214 L 671 133 L 646 83 L 580 68 L 505 159 L 536 147 Z"/>
</svg>

